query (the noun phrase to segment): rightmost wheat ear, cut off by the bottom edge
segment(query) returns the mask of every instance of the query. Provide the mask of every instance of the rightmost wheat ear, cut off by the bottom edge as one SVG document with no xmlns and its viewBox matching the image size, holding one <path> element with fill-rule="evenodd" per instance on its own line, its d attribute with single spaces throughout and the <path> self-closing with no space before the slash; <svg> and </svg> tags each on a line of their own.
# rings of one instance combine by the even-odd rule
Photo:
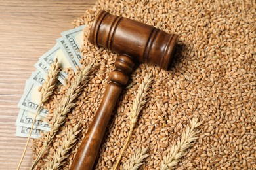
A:
<svg viewBox="0 0 256 170">
<path fill-rule="evenodd" d="M 179 159 L 186 154 L 186 150 L 198 139 L 199 130 L 196 128 L 200 124 L 202 122 L 198 122 L 198 117 L 190 120 L 190 126 L 182 132 L 181 139 L 178 139 L 177 144 L 171 146 L 169 153 L 163 155 L 161 170 L 173 169 L 179 163 Z"/>
</svg>

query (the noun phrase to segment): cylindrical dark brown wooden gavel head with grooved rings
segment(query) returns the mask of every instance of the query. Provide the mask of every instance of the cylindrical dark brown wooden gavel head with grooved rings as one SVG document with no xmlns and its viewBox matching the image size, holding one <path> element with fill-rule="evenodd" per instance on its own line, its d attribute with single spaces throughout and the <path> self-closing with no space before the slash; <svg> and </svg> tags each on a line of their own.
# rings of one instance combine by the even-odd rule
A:
<svg viewBox="0 0 256 170">
<path fill-rule="evenodd" d="M 92 44 L 165 70 L 169 69 L 177 40 L 178 35 L 104 10 L 97 14 L 89 36 Z"/>
</svg>

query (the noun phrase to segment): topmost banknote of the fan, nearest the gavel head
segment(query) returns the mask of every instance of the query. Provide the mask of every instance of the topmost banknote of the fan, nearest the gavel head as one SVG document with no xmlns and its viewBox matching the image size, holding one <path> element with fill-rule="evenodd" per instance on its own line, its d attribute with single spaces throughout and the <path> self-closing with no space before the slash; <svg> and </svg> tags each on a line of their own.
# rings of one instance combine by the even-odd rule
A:
<svg viewBox="0 0 256 170">
<path fill-rule="evenodd" d="M 81 25 L 80 27 L 76 27 L 74 29 L 70 29 L 68 31 L 64 31 L 61 33 L 62 37 L 64 37 L 65 42 L 68 43 L 68 46 L 72 48 L 72 54 L 79 61 L 83 58 L 80 51 L 83 46 L 83 29 L 86 25 Z"/>
</svg>

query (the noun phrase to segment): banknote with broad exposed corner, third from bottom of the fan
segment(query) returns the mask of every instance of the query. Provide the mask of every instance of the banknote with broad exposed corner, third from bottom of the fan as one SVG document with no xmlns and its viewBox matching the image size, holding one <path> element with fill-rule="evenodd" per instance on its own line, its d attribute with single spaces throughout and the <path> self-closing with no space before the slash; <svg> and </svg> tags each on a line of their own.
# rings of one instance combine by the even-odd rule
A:
<svg viewBox="0 0 256 170">
<path fill-rule="evenodd" d="M 37 107 L 39 107 L 40 103 L 40 92 L 38 91 L 39 85 L 32 80 L 30 84 L 28 84 L 28 87 L 26 88 L 24 94 L 22 95 L 18 107 L 20 109 L 28 110 L 30 112 L 36 113 Z M 41 116 L 47 116 L 48 110 L 47 109 L 41 109 L 39 111 L 39 115 Z"/>
</svg>

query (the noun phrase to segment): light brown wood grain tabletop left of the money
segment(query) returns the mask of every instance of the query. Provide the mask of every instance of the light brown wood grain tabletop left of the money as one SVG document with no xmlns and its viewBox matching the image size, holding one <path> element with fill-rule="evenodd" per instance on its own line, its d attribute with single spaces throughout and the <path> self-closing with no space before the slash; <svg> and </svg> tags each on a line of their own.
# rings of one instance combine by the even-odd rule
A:
<svg viewBox="0 0 256 170">
<path fill-rule="evenodd" d="M 37 59 L 95 0 L 0 0 L 0 169 L 16 169 L 26 138 L 15 136 L 18 101 Z M 21 169 L 32 164 L 30 148 Z"/>
</svg>

